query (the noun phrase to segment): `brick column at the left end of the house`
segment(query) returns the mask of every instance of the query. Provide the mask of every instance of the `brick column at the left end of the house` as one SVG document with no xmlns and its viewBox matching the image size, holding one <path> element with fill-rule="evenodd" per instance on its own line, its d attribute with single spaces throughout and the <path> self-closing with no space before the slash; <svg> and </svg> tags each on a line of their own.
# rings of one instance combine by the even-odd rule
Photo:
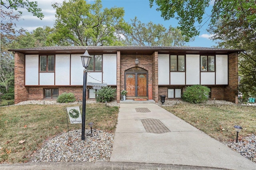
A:
<svg viewBox="0 0 256 170">
<path fill-rule="evenodd" d="M 14 103 L 28 100 L 28 88 L 25 87 L 25 55 L 14 55 Z"/>
</svg>

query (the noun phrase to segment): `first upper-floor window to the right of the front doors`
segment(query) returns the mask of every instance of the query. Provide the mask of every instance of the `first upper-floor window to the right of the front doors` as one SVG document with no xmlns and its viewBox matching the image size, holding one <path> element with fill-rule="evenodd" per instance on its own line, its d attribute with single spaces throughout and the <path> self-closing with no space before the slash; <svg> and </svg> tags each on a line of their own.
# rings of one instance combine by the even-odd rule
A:
<svg viewBox="0 0 256 170">
<path fill-rule="evenodd" d="M 170 55 L 170 71 L 185 71 L 185 55 Z"/>
</svg>

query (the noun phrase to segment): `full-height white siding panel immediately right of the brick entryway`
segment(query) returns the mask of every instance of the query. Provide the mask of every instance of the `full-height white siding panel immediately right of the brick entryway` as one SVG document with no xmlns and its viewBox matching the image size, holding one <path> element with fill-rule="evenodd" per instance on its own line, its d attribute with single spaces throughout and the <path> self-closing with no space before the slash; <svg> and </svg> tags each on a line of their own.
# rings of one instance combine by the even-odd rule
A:
<svg viewBox="0 0 256 170">
<path fill-rule="evenodd" d="M 158 54 L 158 84 L 170 84 L 170 62 L 169 54 Z"/>
</svg>

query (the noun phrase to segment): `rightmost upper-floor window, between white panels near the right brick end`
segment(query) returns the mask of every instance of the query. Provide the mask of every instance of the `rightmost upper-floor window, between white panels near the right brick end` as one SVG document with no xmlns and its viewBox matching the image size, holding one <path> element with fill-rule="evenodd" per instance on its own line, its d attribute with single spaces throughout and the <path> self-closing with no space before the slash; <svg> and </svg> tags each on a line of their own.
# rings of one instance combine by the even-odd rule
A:
<svg viewBox="0 0 256 170">
<path fill-rule="evenodd" d="M 201 71 L 215 71 L 214 55 L 201 55 L 200 56 Z"/>
</svg>

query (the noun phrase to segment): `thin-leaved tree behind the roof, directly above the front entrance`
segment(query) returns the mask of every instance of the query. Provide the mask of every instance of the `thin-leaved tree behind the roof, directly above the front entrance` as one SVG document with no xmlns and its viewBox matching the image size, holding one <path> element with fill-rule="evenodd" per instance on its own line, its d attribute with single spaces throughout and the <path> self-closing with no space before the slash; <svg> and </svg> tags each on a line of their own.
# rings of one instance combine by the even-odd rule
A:
<svg viewBox="0 0 256 170">
<path fill-rule="evenodd" d="M 141 23 L 135 17 L 131 20 L 130 28 L 129 32 L 122 33 L 125 45 L 184 46 L 186 43 L 180 30 L 171 26 L 167 30 L 162 24 Z"/>
</svg>

